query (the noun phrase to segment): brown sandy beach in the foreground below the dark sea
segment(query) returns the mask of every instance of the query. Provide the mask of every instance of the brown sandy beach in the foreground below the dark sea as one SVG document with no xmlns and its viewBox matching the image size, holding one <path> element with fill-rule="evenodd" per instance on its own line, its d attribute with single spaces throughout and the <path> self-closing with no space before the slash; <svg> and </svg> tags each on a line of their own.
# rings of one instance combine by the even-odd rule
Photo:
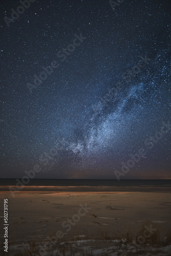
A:
<svg viewBox="0 0 171 256">
<path fill-rule="evenodd" d="M 46 243 L 46 253 L 52 254 L 44 255 L 68 255 L 67 251 L 62 254 L 62 244 L 67 247 L 67 244 L 71 246 L 72 243 L 76 243 L 75 246 L 79 247 L 77 248 L 79 251 L 84 247 L 80 241 L 86 243 L 88 247 L 95 246 L 96 249 L 101 248 L 101 250 L 102 248 L 111 248 L 117 241 L 122 241 L 122 245 L 126 246 L 127 243 L 131 246 L 130 248 L 137 251 L 140 246 L 150 243 L 151 239 L 149 237 L 141 238 L 138 240 L 139 243 L 136 241 L 137 246 L 135 246 L 134 238 L 140 232 L 143 224 L 146 224 L 147 229 L 151 229 L 152 233 L 158 232 L 158 239 L 163 243 L 165 241 L 165 245 L 169 246 L 168 238 L 166 238 L 167 232 L 171 230 L 169 192 L 54 193 L 25 191 L 16 192 L 13 198 L 10 192 L 1 191 L 2 205 L 6 198 L 9 207 L 9 255 L 27 255 L 27 250 L 38 252 L 37 248 L 40 246 L 44 247 L 45 252 L 45 243 L 48 241 L 48 237 L 52 243 Z M 1 208 L 2 225 L 3 215 Z M 153 236 L 153 234 L 151 235 Z M 3 238 L 4 236 L 1 234 L 1 241 Z M 129 239 L 132 242 L 129 242 Z M 51 246 L 50 250 L 47 250 L 48 246 Z M 167 249 L 171 250 L 171 247 Z M 126 253 L 125 249 L 124 251 Z M 22 254 L 17 254 L 19 252 Z M 107 255 L 121 255 L 116 248 L 111 253 L 113 254 Z M 144 255 L 146 254 L 145 252 Z M 96 255 L 96 251 L 93 255 Z M 162 255 L 171 254 L 163 252 Z"/>
</svg>

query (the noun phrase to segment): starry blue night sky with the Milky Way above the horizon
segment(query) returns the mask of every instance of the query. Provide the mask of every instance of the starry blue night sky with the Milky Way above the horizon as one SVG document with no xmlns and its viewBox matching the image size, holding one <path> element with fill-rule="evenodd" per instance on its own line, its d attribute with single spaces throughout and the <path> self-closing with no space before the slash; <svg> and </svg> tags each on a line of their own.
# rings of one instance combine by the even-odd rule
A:
<svg viewBox="0 0 171 256">
<path fill-rule="evenodd" d="M 171 179 L 171 3 L 116 3 L 1 1 L 1 178 Z"/>
</svg>

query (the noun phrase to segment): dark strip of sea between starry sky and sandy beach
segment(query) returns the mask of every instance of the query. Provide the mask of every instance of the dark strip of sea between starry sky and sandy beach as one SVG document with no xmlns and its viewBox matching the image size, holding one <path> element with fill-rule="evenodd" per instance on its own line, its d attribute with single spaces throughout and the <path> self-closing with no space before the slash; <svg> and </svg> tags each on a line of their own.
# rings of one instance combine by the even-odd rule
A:
<svg viewBox="0 0 171 256">
<path fill-rule="evenodd" d="M 22 182 L 22 179 L 18 179 Z M 16 179 L 0 179 L 0 191 L 171 191 L 171 180 L 106 180 L 106 179 L 30 179 L 28 184 Z"/>
</svg>

